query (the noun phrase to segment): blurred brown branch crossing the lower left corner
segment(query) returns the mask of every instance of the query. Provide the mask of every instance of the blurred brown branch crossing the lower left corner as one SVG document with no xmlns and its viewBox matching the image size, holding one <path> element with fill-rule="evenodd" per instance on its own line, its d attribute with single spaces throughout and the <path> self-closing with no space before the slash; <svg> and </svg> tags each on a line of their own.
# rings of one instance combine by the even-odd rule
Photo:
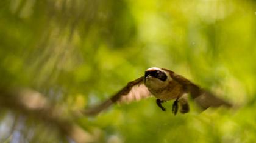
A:
<svg viewBox="0 0 256 143">
<path fill-rule="evenodd" d="M 61 115 L 62 108 L 51 105 L 41 93 L 30 89 L 0 88 L 0 107 L 46 124 L 53 124 L 62 135 L 76 142 L 94 142 L 96 137 L 76 125 L 71 118 Z"/>
</svg>

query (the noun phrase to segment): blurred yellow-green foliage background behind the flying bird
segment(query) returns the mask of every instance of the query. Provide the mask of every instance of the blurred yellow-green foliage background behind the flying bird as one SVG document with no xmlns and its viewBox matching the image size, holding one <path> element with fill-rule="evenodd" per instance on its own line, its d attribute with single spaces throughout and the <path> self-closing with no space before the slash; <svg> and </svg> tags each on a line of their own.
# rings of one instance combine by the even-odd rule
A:
<svg viewBox="0 0 256 143">
<path fill-rule="evenodd" d="M 90 135 L 80 142 L 255 142 L 255 27 L 252 0 L 1 0 L 0 142 L 79 142 L 65 122 L 52 125 L 62 116 Z M 172 101 L 163 112 L 150 98 L 74 118 L 149 67 L 175 71 L 237 108 L 200 113 L 191 101 L 190 113 L 174 116 Z M 17 88 L 41 93 L 54 105 L 47 111 L 60 114 L 45 121 L 47 113 L 15 108 L 23 103 Z"/>
</svg>

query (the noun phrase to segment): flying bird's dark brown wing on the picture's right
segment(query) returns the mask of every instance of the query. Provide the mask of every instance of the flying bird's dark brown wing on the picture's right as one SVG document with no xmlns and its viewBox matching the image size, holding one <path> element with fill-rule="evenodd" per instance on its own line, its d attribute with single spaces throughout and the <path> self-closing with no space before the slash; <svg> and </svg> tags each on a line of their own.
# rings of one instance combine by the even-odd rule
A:
<svg viewBox="0 0 256 143">
<path fill-rule="evenodd" d="M 213 93 L 210 93 L 209 91 L 200 88 L 183 76 L 178 75 L 171 70 L 166 71 L 170 73 L 172 79 L 183 85 L 185 91 L 191 94 L 194 101 L 199 105 L 199 107 L 202 108 L 202 110 L 206 110 L 209 107 L 219 107 L 221 105 L 225 107 L 232 107 L 232 104 L 230 104 L 229 102 L 224 101 L 223 99 L 213 95 Z"/>
</svg>

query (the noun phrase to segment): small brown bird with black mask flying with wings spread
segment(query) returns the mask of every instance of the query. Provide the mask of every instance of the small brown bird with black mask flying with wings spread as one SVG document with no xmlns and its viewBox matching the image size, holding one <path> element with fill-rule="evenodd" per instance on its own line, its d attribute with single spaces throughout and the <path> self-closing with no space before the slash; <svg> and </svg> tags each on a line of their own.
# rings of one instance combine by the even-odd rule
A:
<svg viewBox="0 0 256 143">
<path fill-rule="evenodd" d="M 180 113 L 188 113 L 190 106 L 188 104 L 188 95 L 202 108 L 206 110 L 209 107 L 232 107 L 230 102 L 219 98 L 210 91 L 204 90 L 187 78 L 174 73 L 166 68 L 151 67 L 144 75 L 119 90 L 115 95 L 99 105 L 82 111 L 85 115 L 98 115 L 102 110 L 110 105 L 118 103 L 130 103 L 140 101 L 144 98 L 155 97 L 156 104 L 162 111 L 166 111 L 163 102 L 174 100 L 172 104 L 172 113 L 177 114 L 180 107 Z"/>
</svg>

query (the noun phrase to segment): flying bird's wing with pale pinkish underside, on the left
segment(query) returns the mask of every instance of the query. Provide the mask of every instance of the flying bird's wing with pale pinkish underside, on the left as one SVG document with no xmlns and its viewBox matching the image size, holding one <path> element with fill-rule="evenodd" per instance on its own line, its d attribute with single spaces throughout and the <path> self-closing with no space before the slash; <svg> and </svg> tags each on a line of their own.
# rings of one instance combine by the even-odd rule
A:
<svg viewBox="0 0 256 143">
<path fill-rule="evenodd" d="M 143 98 L 148 98 L 151 96 L 151 93 L 148 91 L 148 88 L 144 85 L 144 76 L 135 79 L 134 81 L 129 82 L 126 87 L 121 89 L 118 93 L 112 96 L 112 98 L 107 99 L 107 101 L 102 102 L 95 107 L 89 108 L 88 110 L 82 111 L 85 115 L 93 116 L 97 115 L 99 112 L 109 107 L 115 102 L 132 102 L 139 101 Z"/>
</svg>

